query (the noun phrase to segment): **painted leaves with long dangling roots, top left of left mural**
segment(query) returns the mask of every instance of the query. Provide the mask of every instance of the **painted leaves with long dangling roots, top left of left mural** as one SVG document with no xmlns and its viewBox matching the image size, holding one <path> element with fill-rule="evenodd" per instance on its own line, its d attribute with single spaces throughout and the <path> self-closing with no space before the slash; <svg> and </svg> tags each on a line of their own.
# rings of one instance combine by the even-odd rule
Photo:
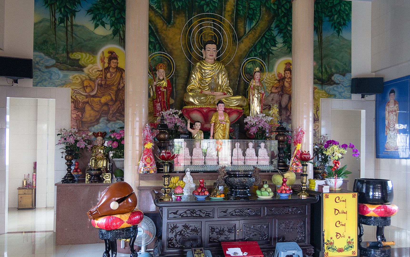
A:
<svg viewBox="0 0 410 257">
<path fill-rule="evenodd" d="M 71 42 L 73 42 L 73 25 L 75 14 L 80 11 L 81 0 L 43 0 L 44 6 L 50 9 L 50 27 L 54 32 L 57 45 L 56 27 L 64 24 L 66 28 L 66 58 L 68 60 L 68 23 L 70 23 Z M 58 13 L 58 18 L 57 18 Z"/>
</svg>

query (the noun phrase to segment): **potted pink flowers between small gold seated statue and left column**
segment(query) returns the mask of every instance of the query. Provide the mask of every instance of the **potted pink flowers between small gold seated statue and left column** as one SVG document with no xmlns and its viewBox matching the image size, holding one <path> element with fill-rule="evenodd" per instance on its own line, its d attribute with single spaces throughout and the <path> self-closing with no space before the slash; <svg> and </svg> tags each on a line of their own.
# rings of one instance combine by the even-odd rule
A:
<svg viewBox="0 0 410 257">
<path fill-rule="evenodd" d="M 112 161 L 114 161 L 115 166 L 124 169 L 124 127 L 118 127 L 118 132 L 115 132 L 115 130 L 109 132 L 105 152 L 111 151 Z"/>
</svg>

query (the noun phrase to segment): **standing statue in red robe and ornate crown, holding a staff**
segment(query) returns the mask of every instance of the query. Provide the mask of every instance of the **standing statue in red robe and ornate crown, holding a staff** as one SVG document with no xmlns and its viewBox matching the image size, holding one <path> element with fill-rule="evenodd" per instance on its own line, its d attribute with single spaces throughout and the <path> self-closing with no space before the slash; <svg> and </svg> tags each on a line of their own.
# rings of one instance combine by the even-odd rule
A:
<svg viewBox="0 0 410 257">
<path fill-rule="evenodd" d="M 154 116 L 159 118 L 161 111 L 169 110 L 169 97 L 171 96 L 171 82 L 165 76 L 165 64 L 157 64 L 157 79 L 150 84 L 150 95 L 153 99 Z"/>
</svg>

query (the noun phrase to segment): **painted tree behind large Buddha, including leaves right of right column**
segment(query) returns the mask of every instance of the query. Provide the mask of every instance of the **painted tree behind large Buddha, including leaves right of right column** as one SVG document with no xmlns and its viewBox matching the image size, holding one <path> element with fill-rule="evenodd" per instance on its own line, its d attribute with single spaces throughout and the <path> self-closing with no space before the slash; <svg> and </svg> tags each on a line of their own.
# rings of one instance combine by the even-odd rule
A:
<svg viewBox="0 0 410 257">
<path fill-rule="evenodd" d="M 329 20 L 333 29 L 340 34 L 350 20 L 351 2 L 316 0 L 315 8 L 319 11 L 315 11 L 315 32 L 319 34 L 318 23 Z M 283 46 L 289 52 L 292 49 L 292 4 L 289 0 L 150 0 L 149 23 L 156 35 L 149 40 L 150 50 L 157 47 L 153 44 L 160 43 L 161 48 L 174 58 L 173 92 L 180 92 L 173 96 L 177 109 L 183 106 L 181 92 L 186 89 L 191 71 L 191 63 L 179 47 L 181 30 L 190 18 L 204 12 L 223 16 L 237 33 L 237 51 L 227 57 L 230 59 L 235 54 L 226 66 L 235 94 L 245 95 L 246 92 L 246 85 L 239 73 L 246 57 L 269 60 L 269 55 L 274 55 L 277 47 Z M 230 33 L 233 34 L 233 31 Z M 193 59 L 192 56 L 188 57 Z"/>
</svg>

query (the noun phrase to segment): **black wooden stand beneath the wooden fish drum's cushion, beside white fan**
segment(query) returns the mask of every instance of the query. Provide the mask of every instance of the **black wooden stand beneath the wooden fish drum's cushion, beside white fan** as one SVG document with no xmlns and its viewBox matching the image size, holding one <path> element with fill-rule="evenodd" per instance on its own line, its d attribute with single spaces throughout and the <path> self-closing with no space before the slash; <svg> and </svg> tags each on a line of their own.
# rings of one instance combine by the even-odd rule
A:
<svg viewBox="0 0 410 257">
<path fill-rule="evenodd" d="M 117 256 L 117 239 L 130 239 L 130 257 L 137 257 L 137 252 L 134 250 L 134 241 L 137 237 L 138 226 L 120 228 L 117 230 L 103 230 L 98 229 L 98 237 L 105 242 L 105 251 L 103 257 L 109 257 L 109 251 L 111 250 L 112 257 Z"/>
</svg>

